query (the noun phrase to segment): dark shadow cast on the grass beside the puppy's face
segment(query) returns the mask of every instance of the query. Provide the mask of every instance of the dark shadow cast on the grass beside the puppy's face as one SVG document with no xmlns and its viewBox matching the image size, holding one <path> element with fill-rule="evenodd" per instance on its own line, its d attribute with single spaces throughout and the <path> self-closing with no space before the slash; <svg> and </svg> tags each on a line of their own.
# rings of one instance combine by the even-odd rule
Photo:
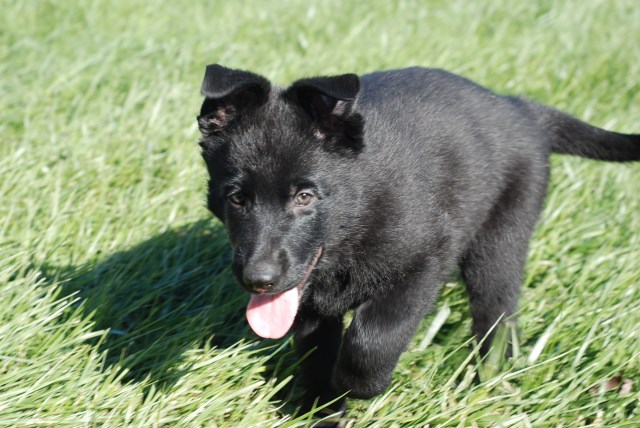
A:
<svg viewBox="0 0 640 428">
<path fill-rule="evenodd" d="M 155 388 L 170 388 L 185 372 L 176 368 L 187 350 L 255 338 L 244 320 L 247 295 L 230 261 L 224 231 L 203 220 L 97 263 L 41 270 L 49 284 L 61 284 L 62 298 L 77 299 L 96 329 L 108 330 L 100 343 L 108 364 L 126 369 L 129 380 L 150 378 Z M 291 349 L 284 358 L 293 358 Z M 274 372 L 267 368 L 264 375 Z"/>
</svg>

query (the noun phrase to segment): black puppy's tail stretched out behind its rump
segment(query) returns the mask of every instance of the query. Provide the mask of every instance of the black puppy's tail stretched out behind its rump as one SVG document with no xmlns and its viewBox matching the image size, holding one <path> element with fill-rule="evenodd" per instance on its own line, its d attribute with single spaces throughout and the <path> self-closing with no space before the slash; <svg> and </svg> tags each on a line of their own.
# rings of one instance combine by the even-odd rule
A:
<svg viewBox="0 0 640 428">
<path fill-rule="evenodd" d="M 640 160 L 640 135 L 605 131 L 550 107 L 532 104 L 541 125 L 550 133 L 553 152 L 613 162 Z"/>
</svg>

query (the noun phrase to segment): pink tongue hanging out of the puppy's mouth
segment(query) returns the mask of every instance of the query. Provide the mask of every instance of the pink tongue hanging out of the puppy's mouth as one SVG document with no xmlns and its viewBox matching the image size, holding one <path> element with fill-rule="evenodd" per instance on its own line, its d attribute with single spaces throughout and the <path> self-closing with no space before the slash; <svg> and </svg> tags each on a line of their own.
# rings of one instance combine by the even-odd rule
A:
<svg viewBox="0 0 640 428">
<path fill-rule="evenodd" d="M 279 339 L 291 328 L 298 312 L 298 287 L 269 296 L 253 294 L 247 306 L 247 321 L 253 331 L 267 339 Z"/>
</svg>

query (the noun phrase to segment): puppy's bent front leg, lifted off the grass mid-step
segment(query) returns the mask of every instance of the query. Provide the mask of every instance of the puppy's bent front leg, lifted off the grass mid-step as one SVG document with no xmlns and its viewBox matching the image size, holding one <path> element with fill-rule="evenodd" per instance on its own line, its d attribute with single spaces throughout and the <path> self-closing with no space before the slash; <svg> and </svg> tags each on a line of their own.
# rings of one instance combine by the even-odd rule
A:
<svg viewBox="0 0 640 428">
<path fill-rule="evenodd" d="M 402 284 L 360 305 L 342 340 L 332 383 L 338 393 L 371 398 L 391 383 L 405 351 L 438 288 Z"/>
</svg>

